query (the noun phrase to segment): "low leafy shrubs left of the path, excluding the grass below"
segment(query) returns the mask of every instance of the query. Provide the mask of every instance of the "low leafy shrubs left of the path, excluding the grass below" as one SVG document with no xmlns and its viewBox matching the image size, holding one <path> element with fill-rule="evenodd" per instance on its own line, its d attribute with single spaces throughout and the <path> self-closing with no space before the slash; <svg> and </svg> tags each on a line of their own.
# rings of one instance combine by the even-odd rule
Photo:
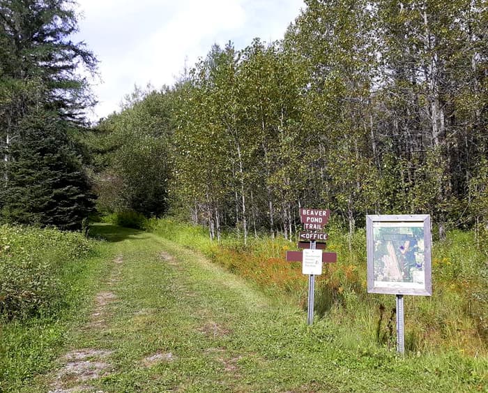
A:
<svg viewBox="0 0 488 393">
<path fill-rule="evenodd" d="M 0 226 L 0 316 L 53 316 L 66 302 L 74 264 L 89 254 L 82 235 Z"/>
</svg>

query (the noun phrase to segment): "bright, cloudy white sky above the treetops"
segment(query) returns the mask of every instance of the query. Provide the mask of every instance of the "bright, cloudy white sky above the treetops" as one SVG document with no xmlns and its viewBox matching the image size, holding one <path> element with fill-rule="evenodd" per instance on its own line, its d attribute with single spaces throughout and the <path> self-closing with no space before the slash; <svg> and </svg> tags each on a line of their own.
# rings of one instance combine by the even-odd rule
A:
<svg viewBox="0 0 488 393">
<path fill-rule="evenodd" d="M 98 61 L 91 81 L 98 99 L 89 117 L 116 111 L 138 87 L 171 86 L 205 57 L 229 42 L 243 49 L 252 39 L 283 38 L 305 8 L 303 0 L 77 0 L 79 33 Z"/>
</svg>

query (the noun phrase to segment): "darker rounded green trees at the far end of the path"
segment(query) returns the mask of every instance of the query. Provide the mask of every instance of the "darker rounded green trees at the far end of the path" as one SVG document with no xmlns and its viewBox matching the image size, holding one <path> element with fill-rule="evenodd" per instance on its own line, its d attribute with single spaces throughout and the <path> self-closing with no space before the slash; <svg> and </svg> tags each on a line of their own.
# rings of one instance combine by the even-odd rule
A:
<svg viewBox="0 0 488 393">
<path fill-rule="evenodd" d="M 130 209 L 161 216 L 168 209 L 171 177 L 171 91 L 136 87 L 119 114 L 104 119 L 88 138 L 98 209 Z"/>
</svg>

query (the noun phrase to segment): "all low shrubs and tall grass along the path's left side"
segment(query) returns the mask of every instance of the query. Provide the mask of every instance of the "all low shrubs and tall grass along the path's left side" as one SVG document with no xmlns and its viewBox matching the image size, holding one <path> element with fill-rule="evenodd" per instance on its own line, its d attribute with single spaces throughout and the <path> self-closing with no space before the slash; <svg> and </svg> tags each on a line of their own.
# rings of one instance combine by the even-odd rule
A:
<svg viewBox="0 0 488 393">
<path fill-rule="evenodd" d="M 49 367 L 100 263 L 75 232 L 0 226 L 0 392 Z"/>
</svg>

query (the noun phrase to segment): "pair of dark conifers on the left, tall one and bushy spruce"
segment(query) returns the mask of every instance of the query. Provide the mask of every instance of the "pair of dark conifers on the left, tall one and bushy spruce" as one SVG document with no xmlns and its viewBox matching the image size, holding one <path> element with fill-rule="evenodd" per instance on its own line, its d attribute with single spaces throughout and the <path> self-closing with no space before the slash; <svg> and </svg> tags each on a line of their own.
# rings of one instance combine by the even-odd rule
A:
<svg viewBox="0 0 488 393">
<path fill-rule="evenodd" d="M 72 138 L 93 104 L 80 68 L 96 59 L 73 43 L 70 0 L 0 2 L 1 219 L 81 227 L 93 209 Z"/>
</svg>

